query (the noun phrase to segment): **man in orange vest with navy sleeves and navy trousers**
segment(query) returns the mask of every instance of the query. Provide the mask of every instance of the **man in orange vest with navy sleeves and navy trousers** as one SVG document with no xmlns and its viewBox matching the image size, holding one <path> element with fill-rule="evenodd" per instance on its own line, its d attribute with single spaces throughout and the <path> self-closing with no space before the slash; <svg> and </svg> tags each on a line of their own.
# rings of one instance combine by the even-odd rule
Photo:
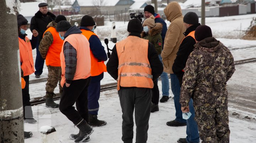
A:
<svg viewBox="0 0 256 143">
<path fill-rule="evenodd" d="M 98 120 L 98 110 L 100 98 L 100 81 L 103 79 L 103 72 L 107 71 L 104 61 L 107 61 L 107 54 L 101 41 L 94 33 L 94 19 L 85 15 L 81 19 L 80 30 L 90 43 L 91 55 L 91 83 L 88 87 L 88 110 L 89 110 L 89 125 L 92 127 L 104 126 L 106 121 Z"/>
</svg>

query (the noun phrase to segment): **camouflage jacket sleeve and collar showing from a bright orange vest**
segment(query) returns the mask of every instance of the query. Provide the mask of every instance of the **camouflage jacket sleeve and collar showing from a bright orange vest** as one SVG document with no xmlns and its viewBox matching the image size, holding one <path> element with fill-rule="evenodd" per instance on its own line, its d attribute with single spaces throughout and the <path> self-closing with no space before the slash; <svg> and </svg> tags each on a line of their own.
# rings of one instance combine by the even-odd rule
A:
<svg viewBox="0 0 256 143">
<path fill-rule="evenodd" d="M 47 25 L 47 29 L 49 27 L 56 28 L 57 23 L 52 21 Z M 46 58 L 48 49 L 49 49 L 50 45 L 52 45 L 52 43 L 53 43 L 53 35 L 49 31 L 44 33 L 43 39 L 41 40 L 40 45 L 39 45 L 39 52 L 40 52 L 42 58 L 44 58 L 44 59 Z"/>
</svg>

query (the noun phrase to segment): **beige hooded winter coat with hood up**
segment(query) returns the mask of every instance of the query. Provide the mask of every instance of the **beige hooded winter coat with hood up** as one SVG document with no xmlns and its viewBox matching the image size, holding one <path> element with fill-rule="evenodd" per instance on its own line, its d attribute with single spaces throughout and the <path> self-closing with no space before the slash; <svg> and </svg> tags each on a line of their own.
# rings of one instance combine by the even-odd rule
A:
<svg viewBox="0 0 256 143">
<path fill-rule="evenodd" d="M 164 13 L 171 24 L 165 35 L 164 49 L 162 50 L 161 57 L 164 63 L 164 71 L 173 74 L 172 65 L 181 41 L 185 37 L 183 32 L 186 31 L 186 28 L 183 25 L 182 11 L 178 2 L 170 2 L 164 9 Z"/>
</svg>

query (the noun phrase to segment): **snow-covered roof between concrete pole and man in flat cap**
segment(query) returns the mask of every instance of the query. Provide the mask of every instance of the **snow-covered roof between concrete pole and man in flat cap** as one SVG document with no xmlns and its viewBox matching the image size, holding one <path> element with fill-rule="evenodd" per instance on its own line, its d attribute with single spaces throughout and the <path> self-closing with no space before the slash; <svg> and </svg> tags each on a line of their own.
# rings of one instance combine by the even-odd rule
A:
<svg viewBox="0 0 256 143">
<path fill-rule="evenodd" d="M 38 4 L 40 4 L 40 2 L 21 2 L 21 11 L 19 13 L 24 17 L 34 16 L 39 10 Z"/>
</svg>

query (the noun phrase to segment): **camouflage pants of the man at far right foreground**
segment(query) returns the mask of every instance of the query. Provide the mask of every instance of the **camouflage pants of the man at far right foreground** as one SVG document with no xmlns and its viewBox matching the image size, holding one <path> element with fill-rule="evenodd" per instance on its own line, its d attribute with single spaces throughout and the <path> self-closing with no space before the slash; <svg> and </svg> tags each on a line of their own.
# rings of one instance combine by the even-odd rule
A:
<svg viewBox="0 0 256 143">
<path fill-rule="evenodd" d="M 194 109 L 194 120 L 197 122 L 202 143 L 229 143 L 227 102 L 220 106 L 209 104 L 194 106 Z"/>
</svg>

